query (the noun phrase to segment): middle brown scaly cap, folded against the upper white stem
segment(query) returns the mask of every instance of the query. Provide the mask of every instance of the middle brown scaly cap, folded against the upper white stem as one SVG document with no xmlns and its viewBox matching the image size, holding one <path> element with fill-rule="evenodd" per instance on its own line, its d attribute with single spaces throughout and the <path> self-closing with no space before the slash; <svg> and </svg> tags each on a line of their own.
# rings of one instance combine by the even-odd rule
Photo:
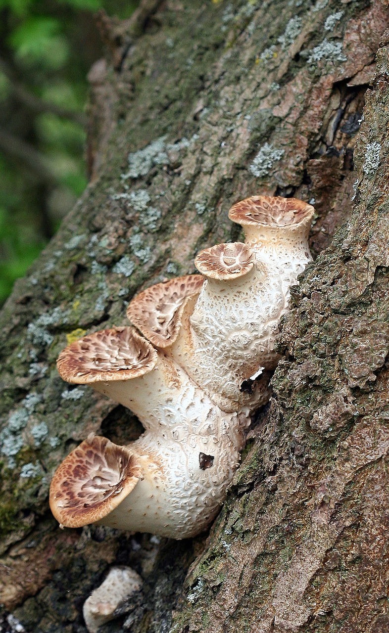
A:
<svg viewBox="0 0 389 633">
<path fill-rule="evenodd" d="M 167 348 L 177 339 L 186 301 L 204 281 L 201 275 L 186 275 L 151 285 L 132 299 L 127 317 L 153 345 Z"/>
</svg>

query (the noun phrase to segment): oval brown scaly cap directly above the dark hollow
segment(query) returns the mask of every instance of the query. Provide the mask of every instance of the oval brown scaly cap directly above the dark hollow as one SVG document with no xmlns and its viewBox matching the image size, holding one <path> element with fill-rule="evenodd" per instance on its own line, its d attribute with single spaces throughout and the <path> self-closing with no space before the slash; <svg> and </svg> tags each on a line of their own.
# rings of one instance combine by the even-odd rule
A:
<svg viewBox="0 0 389 633">
<path fill-rule="evenodd" d="M 86 385 L 101 380 L 129 380 L 151 372 L 157 353 L 132 327 L 114 327 L 87 334 L 61 351 L 60 376 Z"/>
</svg>

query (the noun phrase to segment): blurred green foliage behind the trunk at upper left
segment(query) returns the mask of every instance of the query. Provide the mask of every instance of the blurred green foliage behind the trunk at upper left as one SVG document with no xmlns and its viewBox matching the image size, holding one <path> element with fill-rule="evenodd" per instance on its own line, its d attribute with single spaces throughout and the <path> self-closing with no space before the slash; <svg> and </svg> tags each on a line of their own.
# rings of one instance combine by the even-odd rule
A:
<svg viewBox="0 0 389 633">
<path fill-rule="evenodd" d="M 0 0 L 0 304 L 86 187 L 94 12 L 137 0 Z"/>
</svg>

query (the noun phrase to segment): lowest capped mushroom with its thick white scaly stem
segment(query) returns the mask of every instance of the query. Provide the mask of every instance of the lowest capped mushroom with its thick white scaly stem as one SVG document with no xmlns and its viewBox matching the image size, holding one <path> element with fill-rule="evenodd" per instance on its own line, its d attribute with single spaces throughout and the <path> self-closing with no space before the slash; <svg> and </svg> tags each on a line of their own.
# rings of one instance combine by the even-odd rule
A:
<svg viewBox="0 0 389 633">
<path fill-rule="evenodd" d="M 125 447 L 89 437 L 65 458 L 50 488 L 61 525 L 99 523 L 175 539 L 207 527 L 238 467 L 250 418 L 221 411 L 198 387 L 194 399 L 187 395 L 186 417 L 169 429 Z"/>
</svg>

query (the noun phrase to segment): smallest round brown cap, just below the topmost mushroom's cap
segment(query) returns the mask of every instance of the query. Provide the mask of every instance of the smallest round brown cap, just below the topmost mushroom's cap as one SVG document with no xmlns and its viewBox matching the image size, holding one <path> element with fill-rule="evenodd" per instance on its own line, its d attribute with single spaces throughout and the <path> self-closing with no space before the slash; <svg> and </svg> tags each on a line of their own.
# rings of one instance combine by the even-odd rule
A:
<svg viewBox="0 0 389 633">
<path fill-rule="evenodd" d="M 200 251 L 194 265 L 203 275 L 212 279 L 237 279 L 252 270 L 254 259 L 249 246 L 242 242 L 232 242 Z"/>
</svg>

